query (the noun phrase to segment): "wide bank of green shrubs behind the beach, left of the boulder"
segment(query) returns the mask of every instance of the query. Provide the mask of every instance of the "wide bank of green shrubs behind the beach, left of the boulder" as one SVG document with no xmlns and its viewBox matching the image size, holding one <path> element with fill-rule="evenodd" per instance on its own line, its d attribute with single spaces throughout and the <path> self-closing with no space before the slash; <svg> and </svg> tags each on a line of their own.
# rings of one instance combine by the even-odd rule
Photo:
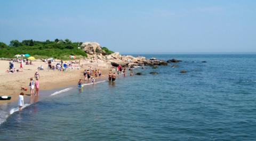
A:
<svg viewBox="0 0 256 141">
<path fill-rule="evenodd" d="M 69 59 L 69 55 L 87 57 L 83 49 L 77 48 L 79 43 L 72 43 L 66 39 L 66 42 L 55 42 L 46 40 L 46 42 L 35 40 L 12 40 L 10 46 L 0 42 L 0 57 L 13 58 L 16 54 L 30 54 L 36 59 L 45 59 L 54 57 L 55 59 Z"/>
</svg>

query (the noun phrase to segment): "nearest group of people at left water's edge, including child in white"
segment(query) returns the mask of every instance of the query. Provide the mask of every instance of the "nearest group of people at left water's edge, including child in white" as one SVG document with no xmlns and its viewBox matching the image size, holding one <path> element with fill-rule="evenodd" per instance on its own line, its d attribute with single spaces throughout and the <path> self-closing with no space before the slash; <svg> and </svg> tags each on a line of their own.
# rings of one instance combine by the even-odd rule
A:
<svg viewBox="0 0 256 141">
<path fill-rule="evenodd" d="M 29 89 L 30 89 L 30 96 L 35 96 L 35 95 L 39 95 L 39 78 L 40 75 L 38 73 L 38 71 L 36 71 L 35 75 L 35 82 L 33 77 L 30 78 L 29 81 Z M 21 90 L 25 90 L 27 91 L 27 88 L 21 87 Z M 24 105 L 24 97 L 23 97 L 24 93 L 20 93 L 19 95 L 19 99 L 18 99 L 18 106 L 19 106 L 19 110 L 21 110 L 22 106 Z"/>
</svg>

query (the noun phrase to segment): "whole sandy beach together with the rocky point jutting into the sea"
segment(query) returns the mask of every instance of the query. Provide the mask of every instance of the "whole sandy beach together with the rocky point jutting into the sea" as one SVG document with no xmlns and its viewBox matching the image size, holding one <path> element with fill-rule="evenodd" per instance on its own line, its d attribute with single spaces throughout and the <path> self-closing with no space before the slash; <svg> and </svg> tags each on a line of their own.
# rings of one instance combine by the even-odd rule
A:
<svg viewBox="0 0 256 141">
<path fill-rule="evenodd" d="M 39 66 L 42 66 L 44 70 L 38 70 L 39 77 L 39 95 L 41 90 L 51 90 L 61 87 L 70 86 L 70 84 L 76 85 L 79 79 L 84 79 L 83 71 L 89 69 L 90 67 L 101 70 L 101 77 L 104 78 L 109 72 L 112 72 L 113 68 L 116 69 L 118 65 L 126 67 L 127 71 L 129 68 L 135 68 L 138 66 L 150 66 L 155 65 L 167 65 L 167 62 L 163 60 L 157 60 L 151 58 L 149 60 L 143 56 L 131 56 L 131 55 L 120 55 L 115 52 L 110 55 L 102 54 L 91 54 L 88 55 L 84 60 L 73 60 L 74 63 L 66 71 L 50 70 L 47 69 L 46 62 L 42 60 L 33 60 L 32 64 L 24 65 L 24 68 L 19 69 L 20 63 L 14 62 L 14 68 L 19 69 L 20 72 L 6 73 L 9 70 L 9 61 L 0 60 L 0 96 L 11 96 L 11 100 L 0 101 L 0 105 L 3 103 L 14 102 L 18 100 L 19 94 L 21 92 L 25 95 L 30 95 L 29 90 L 29 79 L 34 78 L 34 74 Z M 79 64 L 78 64 L 78 62 Z M 60 60 L 55 60 L 52 65 L 56 65 Z M 63 63 L 68 61 L 63 61 Z M 126 72 L 127 72 L 126 71 Z M 98 78 L 97 78 L 98 79 Z M 96 79 L 96 81 L 97 81 Z M 35 78 L 34 78 L 35 80 Z M 27 91 L 21 90 L 21 87 L 27 88 Z"/>
</svg>

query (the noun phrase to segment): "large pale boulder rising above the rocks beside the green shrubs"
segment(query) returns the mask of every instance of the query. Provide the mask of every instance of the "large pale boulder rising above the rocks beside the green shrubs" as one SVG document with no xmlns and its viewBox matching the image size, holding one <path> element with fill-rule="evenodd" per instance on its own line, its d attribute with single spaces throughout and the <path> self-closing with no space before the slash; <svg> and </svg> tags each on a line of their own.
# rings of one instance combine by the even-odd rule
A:
<svg viewBox="0 0 256 141">
<path fill-rule="evenodd" d="M 99 54 L 102 52 L 101 46 L 97 42 L 85 42 L 81 45 L 81 48 L 88 54 Z"/>
</svg>

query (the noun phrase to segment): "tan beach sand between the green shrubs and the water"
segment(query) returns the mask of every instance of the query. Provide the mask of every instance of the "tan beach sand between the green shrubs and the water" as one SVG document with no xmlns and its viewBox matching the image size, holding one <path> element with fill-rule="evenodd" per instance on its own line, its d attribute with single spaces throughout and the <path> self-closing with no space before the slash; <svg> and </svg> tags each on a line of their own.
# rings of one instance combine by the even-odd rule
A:
<svg viewBox="0 0 256 141">
<path fill-rule="evenodd" d="M 70 85 L 76 85 L 79 79 L 84 79 L 84 69 L 87 69 L 90 66 L 94 70 L 95 68 L 101 70 L 101 78 L 106 77 L 109 73 L 109 70 L 112 69 L 110 63 L 108 62 L 90 63 L 90 60 L 81 60 L 80 65 L 73 64 L 73 67 L 81 67 L 80 69 L 67 69 L 67 71 L 64 72 L 57 70 L 49 70 L 47 69 L 47 64 L 39 60 L 33 61 L 32 63 L 32 65 L 24 64 L 24 69 L 19 69 L 20 63 L 14 62 L 14 68 L 22 70 L 22 72 L 7 73 L 6 70 L 9 70 L 9 61 L 0 61 L 0 96 L 12 96 L 11 100 L 0 101 L 0 104 L 17 101 L 18 96 L 21 92 L 25 93 L 26 96 L 30 95 L 30 90 L 28 86 L 29 78 L 34 78 L 34 74 L 37 70 L 37 67 L 39 67 L 40 65 L 43 65 L 44 70 L 38 70 L 40 75 L 39 95 L 40 90 L 49 90 Z M 52 64 L 56 63 L 57 62 L 52 62 Z M 21 90 L 21 87 L 28 88 L 28 91 Z"/>
</svg>

